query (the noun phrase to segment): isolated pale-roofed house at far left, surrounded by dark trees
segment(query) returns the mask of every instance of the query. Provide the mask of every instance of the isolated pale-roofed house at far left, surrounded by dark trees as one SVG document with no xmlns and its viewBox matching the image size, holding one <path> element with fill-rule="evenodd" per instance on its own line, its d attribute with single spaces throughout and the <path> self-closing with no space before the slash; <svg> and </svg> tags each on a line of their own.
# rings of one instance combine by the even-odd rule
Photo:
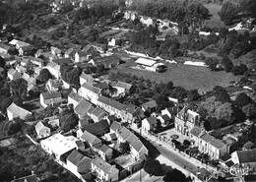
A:
<svg viewBox="0 0 256 182">
<path fill-rule="evenodd" d="M 19 117 L 23 120 L 29 115 L 32 115 L 32 112 L 12 103 L 9 107 L 7 107 L 7 117 L 11 121 L 16 117 Z"/>
</svg>

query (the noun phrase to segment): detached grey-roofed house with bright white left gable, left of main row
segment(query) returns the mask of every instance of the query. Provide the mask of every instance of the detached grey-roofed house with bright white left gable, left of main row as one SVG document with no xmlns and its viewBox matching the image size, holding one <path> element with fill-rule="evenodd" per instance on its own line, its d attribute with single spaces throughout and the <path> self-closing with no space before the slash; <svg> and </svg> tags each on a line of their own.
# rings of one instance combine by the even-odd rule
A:
<svg viewBox="0 0 256 182">
<path fill-rule="evenodd" d="M 42 92 L 40 93 L 40 104 L 43 107 L 47 107 L 50 104 L 61 102 L 61 93 L 60 92 Z"/>
</svg>

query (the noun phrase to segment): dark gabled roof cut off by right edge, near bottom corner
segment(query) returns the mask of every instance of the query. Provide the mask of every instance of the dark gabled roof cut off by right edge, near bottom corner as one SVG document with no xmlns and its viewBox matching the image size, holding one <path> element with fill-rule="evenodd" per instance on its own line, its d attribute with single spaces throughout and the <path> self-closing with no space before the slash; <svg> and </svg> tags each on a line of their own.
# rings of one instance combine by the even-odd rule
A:
<svg viewBox="0 0 256 182">
<path fill-rule="evenodd" d="M 255 162 L 256 149 L 250 151 L 236 151 L 239 163 Z"/>
</svg>

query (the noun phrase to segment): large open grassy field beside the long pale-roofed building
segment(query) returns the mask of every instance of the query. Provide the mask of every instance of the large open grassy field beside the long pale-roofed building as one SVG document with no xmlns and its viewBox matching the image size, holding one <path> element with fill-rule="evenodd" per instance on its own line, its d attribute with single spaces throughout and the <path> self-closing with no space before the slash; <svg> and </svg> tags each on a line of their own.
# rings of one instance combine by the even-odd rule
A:
<svg viewBox="0 0 256 182">
<path fill-rule="evenodd" d="M 126 64 L 125 64 L 126 65 Z M 111 69 L 110 72 L 131 73 L 138 77 L 144 77 L 156 82 L 172 81 L 174 86 L 181 86 L 187 90 L 197 89 L 199 91 L 210 91 L 215 86 L 227 86 L 230 81 L 237 81 L 230 73 L 211 72 L 209 68 L 187 66 L 187 65 L 167 65 L 168 69 L 164 73 L 155 73 L 129 68 L 119 65 Z"/>
</svg>

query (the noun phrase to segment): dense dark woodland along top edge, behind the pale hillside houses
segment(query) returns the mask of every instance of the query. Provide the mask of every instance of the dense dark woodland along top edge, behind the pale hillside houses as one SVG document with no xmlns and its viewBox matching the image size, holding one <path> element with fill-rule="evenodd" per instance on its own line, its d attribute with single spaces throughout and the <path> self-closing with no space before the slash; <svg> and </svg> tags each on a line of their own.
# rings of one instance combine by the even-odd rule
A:
<svg viewBox="0 0 256 182">
<path fill-rule="evenodd" d="M 131 10 L 139 14 L 173 22 L 198 22 L 209 17 L 209 10 L 201 3 L 186 0 L 135 0 Z"/>
</svg>

